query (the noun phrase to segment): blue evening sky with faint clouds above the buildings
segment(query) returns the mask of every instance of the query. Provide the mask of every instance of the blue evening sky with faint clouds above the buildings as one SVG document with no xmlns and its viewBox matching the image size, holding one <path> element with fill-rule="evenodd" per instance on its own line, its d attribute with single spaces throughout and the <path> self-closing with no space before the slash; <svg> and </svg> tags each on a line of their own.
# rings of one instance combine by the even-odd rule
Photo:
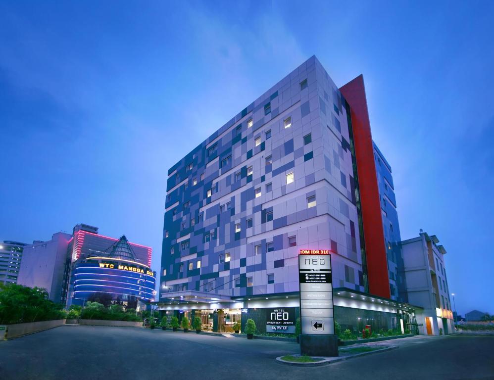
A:
<svg viewBox="0 0 494 380">
<path fill-rule="evenodd" d="M 0 239 L 77 223 L 153 247 L 166 173 L 315 54 L 363 73 L 402 238 L 445 245 L 456 307 L 494 313 L 491 1 L 0 3 Z"/>
</svg>

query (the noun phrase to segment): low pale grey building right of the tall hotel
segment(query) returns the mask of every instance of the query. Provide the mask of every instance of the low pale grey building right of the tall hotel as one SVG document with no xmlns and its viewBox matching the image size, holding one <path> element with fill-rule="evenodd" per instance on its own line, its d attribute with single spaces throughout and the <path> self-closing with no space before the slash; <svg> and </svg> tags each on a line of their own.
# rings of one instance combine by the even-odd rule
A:
<svg viewBox="0 0 494 380">
<path fill-rule="evenodd" d="M 417 238 L 401 242 L 408 300 L 423 308 L 416 319 L 419 332 L 426 335 L 454 332 L 444 260 L 446 250 L 438 243 L 436 235 L 422 230 Z"/>
</svg>

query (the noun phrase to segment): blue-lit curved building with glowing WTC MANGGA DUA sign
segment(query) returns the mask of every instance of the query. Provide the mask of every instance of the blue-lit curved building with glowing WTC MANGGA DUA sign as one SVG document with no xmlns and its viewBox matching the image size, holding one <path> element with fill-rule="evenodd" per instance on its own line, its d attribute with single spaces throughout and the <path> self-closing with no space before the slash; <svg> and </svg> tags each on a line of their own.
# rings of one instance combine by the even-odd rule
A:
<svg viewBox="0 0 494 380">
<path fill-rule="evenodd" d="M 96 301 L 140 309 L 154 300 L 156 275 L 136 261 L 122 236 L 104 254 L 77 260 L 72 271 L 72 303 Z"/>
</svg>

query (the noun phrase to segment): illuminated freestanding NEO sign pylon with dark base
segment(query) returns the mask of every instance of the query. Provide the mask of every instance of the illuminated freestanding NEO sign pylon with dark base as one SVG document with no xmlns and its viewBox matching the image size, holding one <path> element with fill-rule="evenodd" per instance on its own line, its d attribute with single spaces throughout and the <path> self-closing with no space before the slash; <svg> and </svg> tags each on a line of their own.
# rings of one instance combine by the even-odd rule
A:
<svg viewBox="0 0 494 380">
<path fill-rule="evenodd" d="M 300 352 L 311 356 L 338 356 L 330 251 L 301 249 L 298 255 L 298 278 Z"/>
</svg>

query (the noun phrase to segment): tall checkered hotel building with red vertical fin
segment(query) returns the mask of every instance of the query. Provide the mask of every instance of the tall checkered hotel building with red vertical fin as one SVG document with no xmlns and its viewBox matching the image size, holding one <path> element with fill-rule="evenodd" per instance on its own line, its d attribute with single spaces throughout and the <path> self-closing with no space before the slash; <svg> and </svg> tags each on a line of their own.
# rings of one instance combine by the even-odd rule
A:
<svg viewBox="0 0 494 380">
<path fill-rule="evenodd" d="M 338 88 L 312 56 L 169 169 L 158 308 L 274 331 L 299 250 L 328 249 L 342 328 L 414 329 L 395 206 L 363 77 Z"/>
</svg>

